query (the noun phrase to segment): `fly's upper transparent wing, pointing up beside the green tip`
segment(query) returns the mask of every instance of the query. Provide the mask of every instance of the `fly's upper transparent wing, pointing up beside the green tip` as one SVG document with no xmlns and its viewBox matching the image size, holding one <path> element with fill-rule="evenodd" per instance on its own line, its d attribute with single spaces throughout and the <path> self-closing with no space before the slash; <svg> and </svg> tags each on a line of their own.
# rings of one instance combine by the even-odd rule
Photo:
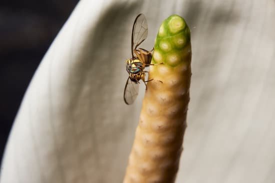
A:
<svg viewBox="0 0 275 183">
<path fill-rule="evenodd" d="M 141 44 L 148 35 L 148 25 L 144 14 L 140 13 L 136 16 L 133 26 L 132 26 L 132 41 L 131 41 L 131 51 L 133 57 L 133 50 Z"/>
</svg>

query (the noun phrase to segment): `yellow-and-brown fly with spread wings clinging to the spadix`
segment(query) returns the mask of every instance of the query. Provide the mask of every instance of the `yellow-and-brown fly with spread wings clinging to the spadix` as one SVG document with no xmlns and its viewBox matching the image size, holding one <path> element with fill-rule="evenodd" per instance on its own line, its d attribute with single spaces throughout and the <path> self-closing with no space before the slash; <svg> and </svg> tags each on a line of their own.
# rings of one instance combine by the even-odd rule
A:
<svg viewBox="0 0 275 183">
<path fill-rule="evenodd" d="M 132 104 L 138 95 L 138 84 L 141 79 L 145 84 L 147 89 L 146 82 L 153 79 L 145 81 L 145 72 L 144 68 L 149 65 L 159 65 L 151 64 L 152 51 L 147 51 L 143 48 L 137 48 L 147 37 L 148 26 L 144 14 L 140 13 L 136 16 L 133 26 L 132 26 L 132 35 L 131 35 L 131 55 L 132 57 L 126 60 L 126 71 L 129 74 L 129 77 L 126 81 L 124 88 L 124 102 L 126 104 Z M 163 64 L 163 63 L 160 63 Z"/>
</svg>

